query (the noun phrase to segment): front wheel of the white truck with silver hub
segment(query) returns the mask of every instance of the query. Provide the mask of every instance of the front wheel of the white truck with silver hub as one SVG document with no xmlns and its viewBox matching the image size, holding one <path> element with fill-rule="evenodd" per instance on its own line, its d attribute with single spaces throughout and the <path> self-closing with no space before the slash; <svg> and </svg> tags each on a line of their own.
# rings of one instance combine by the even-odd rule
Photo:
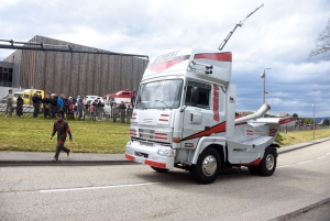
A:
<svg viewBox="0 0 330 221">
<path fill-rule="evenodd" d="M 190 166 L 190 175 L 199 184 L 213 183 L 221 168 L 221 157 L 213 147 L 206 148 L 198 157 L 197 164 Z"/>
</svg>

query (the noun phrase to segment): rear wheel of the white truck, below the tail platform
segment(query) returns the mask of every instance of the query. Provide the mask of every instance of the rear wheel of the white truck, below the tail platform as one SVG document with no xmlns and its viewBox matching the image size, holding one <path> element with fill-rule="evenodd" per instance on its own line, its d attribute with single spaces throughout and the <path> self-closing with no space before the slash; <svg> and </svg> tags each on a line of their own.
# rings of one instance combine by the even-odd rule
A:
<svg viewBox="0 0 330 221">
<path fill-rule="evenodd" d="M 277 164 L 276 157 L 277 157 L 277 153 L 274 148 L 266 150 L 264 154 L 264 158 L 258 165 L 260 175 L 267 177 L 274 174 Z"/>
</svg>

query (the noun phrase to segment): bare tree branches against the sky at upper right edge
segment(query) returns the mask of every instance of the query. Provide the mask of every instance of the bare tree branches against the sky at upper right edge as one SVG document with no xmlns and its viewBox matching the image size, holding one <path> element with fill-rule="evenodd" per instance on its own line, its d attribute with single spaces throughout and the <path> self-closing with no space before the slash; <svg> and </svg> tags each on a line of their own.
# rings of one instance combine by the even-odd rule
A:
<svg viewBox="0 0 330 221">
<path fill-rule="evenodd" d="M 314 56 L 322 55 L 324 59 L 330 60 L 330 19 L 326 29 L 319 34 L 315 44 L 316 48 L 310 51 L 309 59 Z"/>
</svg>

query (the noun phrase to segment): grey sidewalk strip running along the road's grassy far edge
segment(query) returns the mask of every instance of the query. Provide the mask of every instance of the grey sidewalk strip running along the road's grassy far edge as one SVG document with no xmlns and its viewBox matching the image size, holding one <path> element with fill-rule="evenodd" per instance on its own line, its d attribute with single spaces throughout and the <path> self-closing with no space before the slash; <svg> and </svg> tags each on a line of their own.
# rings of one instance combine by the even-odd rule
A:
<svg viewBox="0 0 330 221">
<path fill-rule="evenodd" d="M 310 145 L 330 141 L 330 137 L 306 143 L 282 146 L 278 154 L 308 147 Z M 58 162 L 52 162 L 54 152 L 0 152 L 0 166 L 92 166 L 92 165 L 128 165 L 124 154 L 81 154 L 73 152 L 69 157 L 61 152 Z"/>
</svg>

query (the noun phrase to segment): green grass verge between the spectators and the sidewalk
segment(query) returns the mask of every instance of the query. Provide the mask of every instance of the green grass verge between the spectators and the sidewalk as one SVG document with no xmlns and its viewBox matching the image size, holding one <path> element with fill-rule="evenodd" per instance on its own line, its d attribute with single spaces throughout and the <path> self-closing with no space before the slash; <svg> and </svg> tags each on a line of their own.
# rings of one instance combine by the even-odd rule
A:
<svg viewBox="0 0 330 221">
<path fill-rule="evenodd" d="M 41 118 L 41 117 L 40 117 Z M 129 141 L 129 124 L 97 121 L 67 121 L 74 142 L 66 146 L 76 153 L 123 154 Z M 54 152 L 56 136 L 51 140 L 54 120 L 0 117 L 0 151 Z M 314 140 L 312 131 L 279 133 L 280 146 Z M 315 139 L 330 137 L 330 129 L 315 131 Z"/>
</svg>

